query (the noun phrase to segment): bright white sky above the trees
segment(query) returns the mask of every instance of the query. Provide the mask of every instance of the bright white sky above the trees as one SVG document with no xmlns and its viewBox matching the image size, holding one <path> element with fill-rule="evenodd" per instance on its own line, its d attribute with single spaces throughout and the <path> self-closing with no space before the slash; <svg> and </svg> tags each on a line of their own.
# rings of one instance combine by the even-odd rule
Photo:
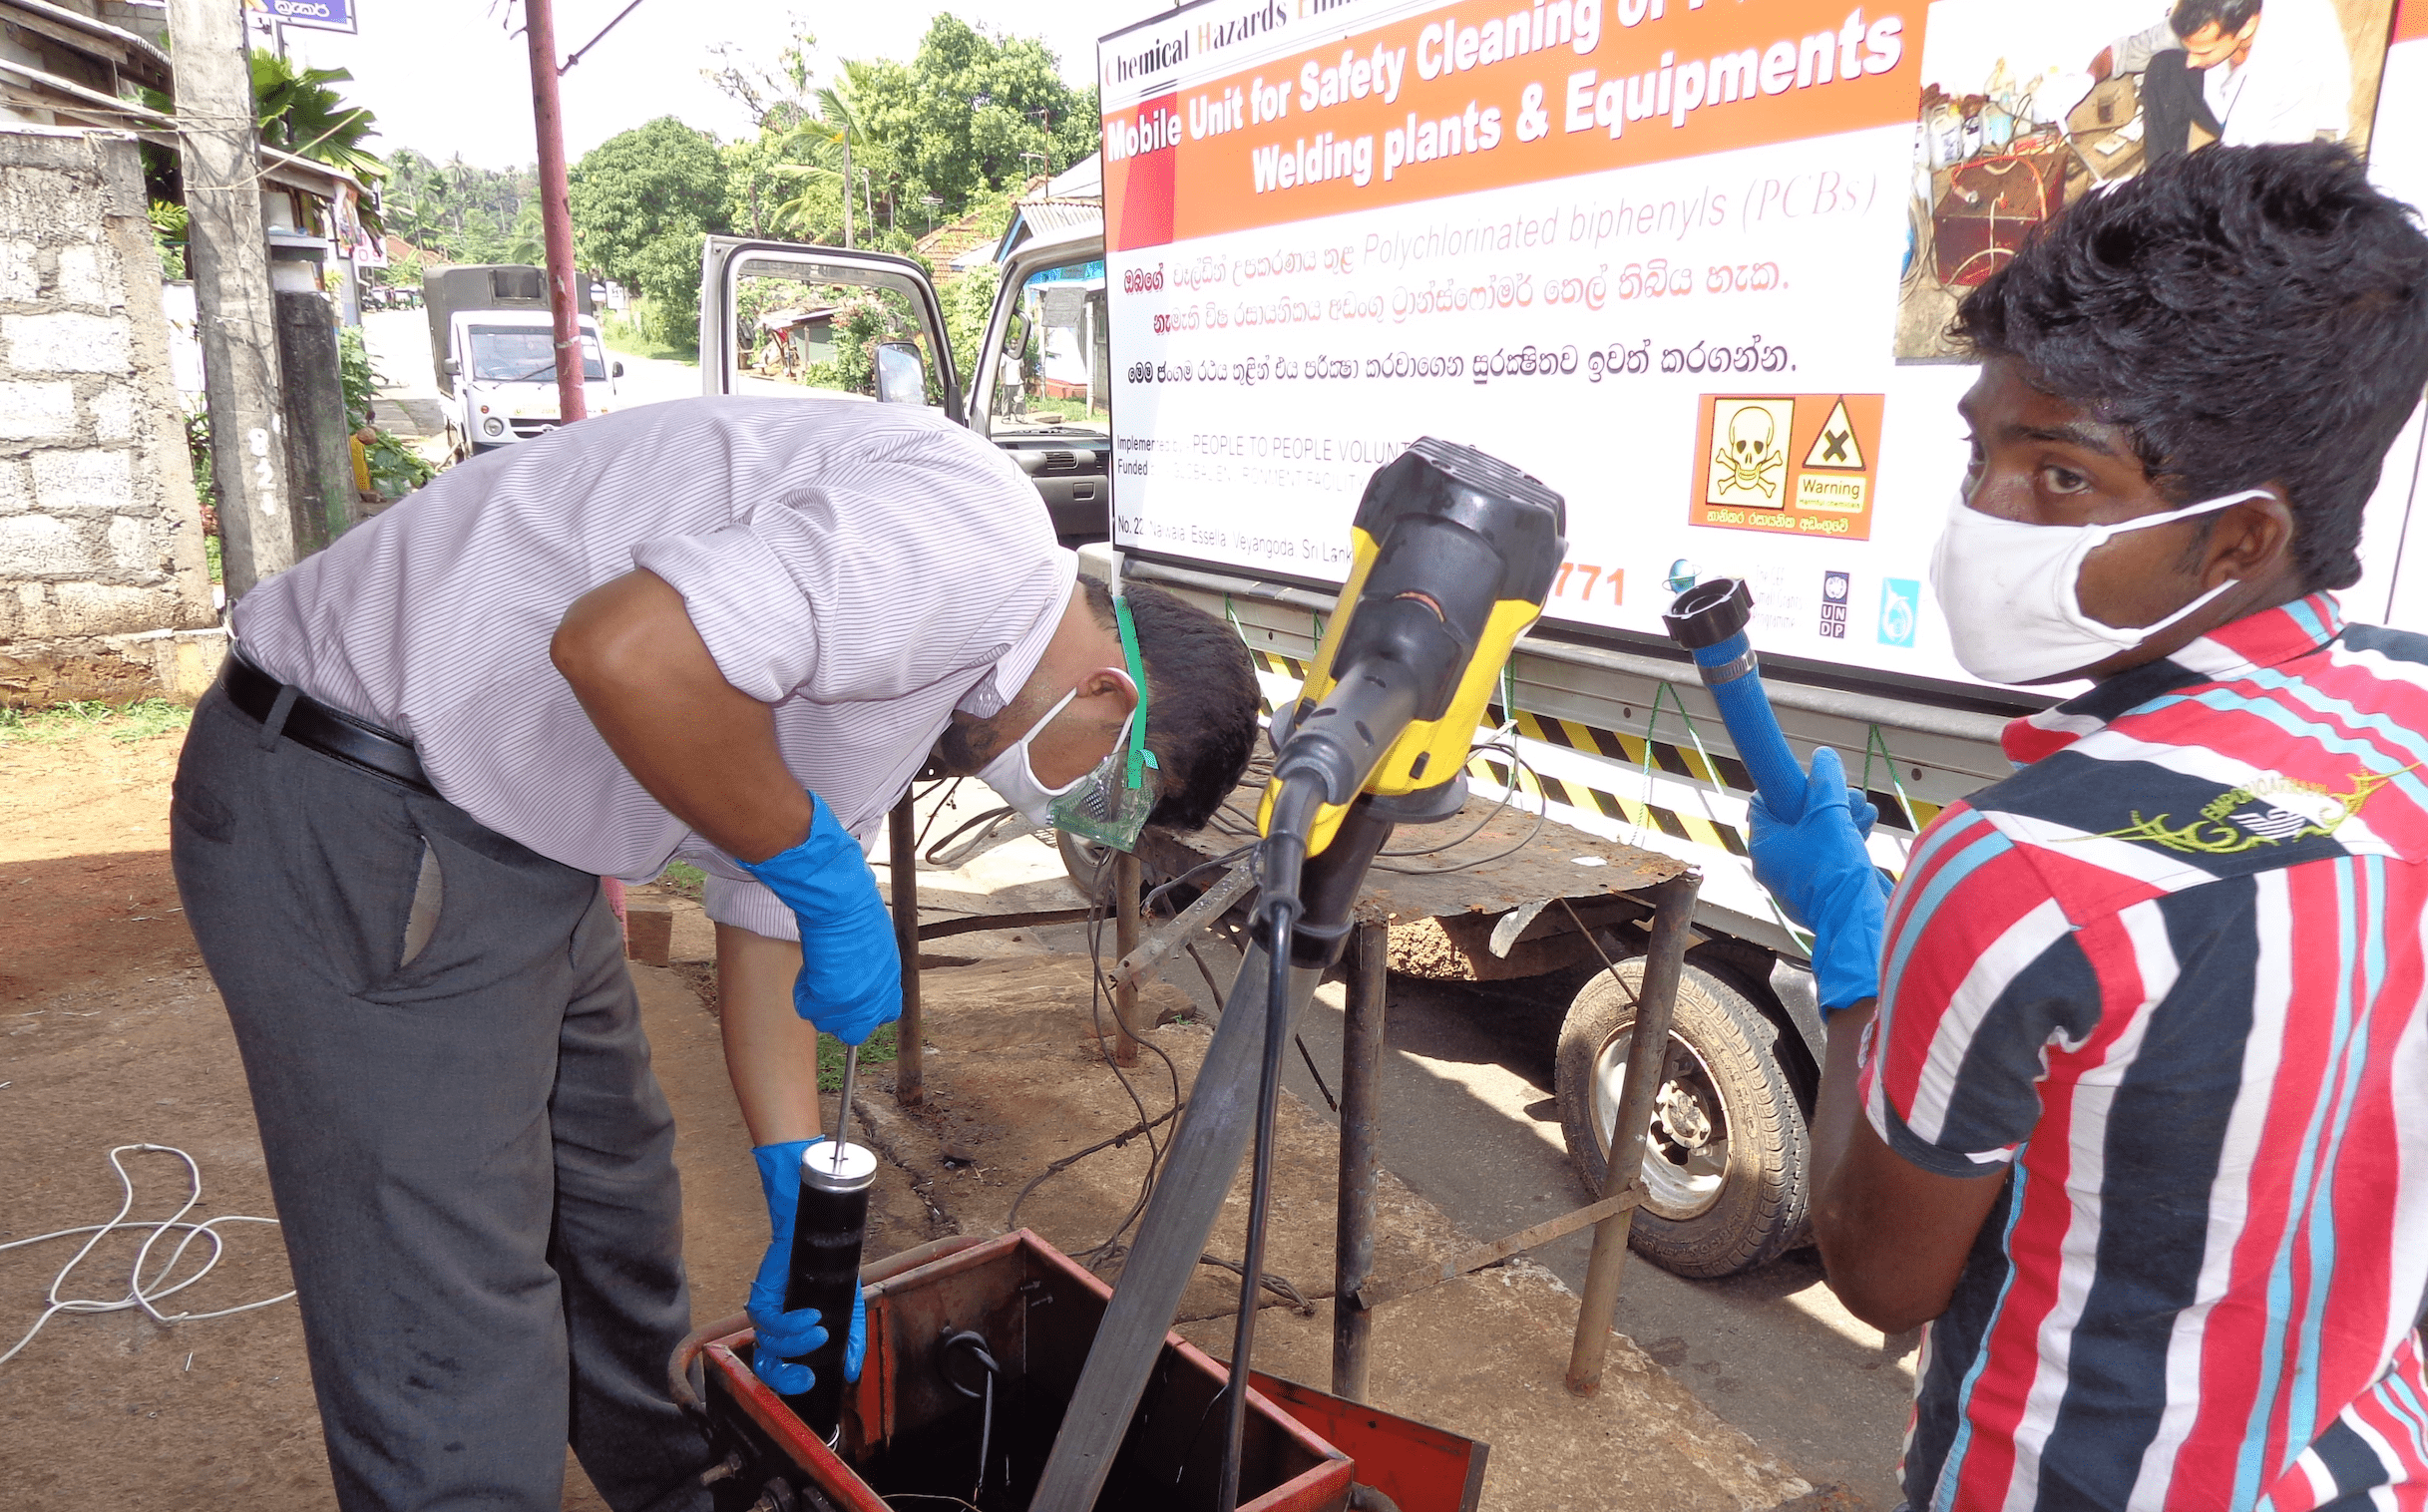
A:
<svg viewBox="0 0 2428 1512">
<path fill-rule="evenodd" d="M 558 58 L 590 41 L 626 0 L 556 0 Z M 318 68 L 347 68 L 337 85 L 352 104 L 379 116 L 371 148 L 401 146 L 439 163 L 461 153 L 483 167 L 529 163 L 532 56 L 522 7 L 505 0 L 354 0 L 362 34 L 287 29 L 287 53 Z M 656 116 L 714 131 L 724 141 L 750 133 L 750 116 L 702 78 L 709 46 L 733 41 L 775 61 L 794 24 L 818 39 L 818 73 L 843 58 L 910 58 L 930 17 L 952 10 L 974 27 L 1042 36 L 1061 56 L 1063 78 L 1095 75 L 1095 39 L 1163 10 L 1161 0 L 860 0 L 852 5 L 787 7 L 784 0 L 641 0 L 624 22 L 563 75 L 566 153 L 583 153 L 617 131 Z M 510 22 L 500 24 L 500 17 Z"/>
</svg>

